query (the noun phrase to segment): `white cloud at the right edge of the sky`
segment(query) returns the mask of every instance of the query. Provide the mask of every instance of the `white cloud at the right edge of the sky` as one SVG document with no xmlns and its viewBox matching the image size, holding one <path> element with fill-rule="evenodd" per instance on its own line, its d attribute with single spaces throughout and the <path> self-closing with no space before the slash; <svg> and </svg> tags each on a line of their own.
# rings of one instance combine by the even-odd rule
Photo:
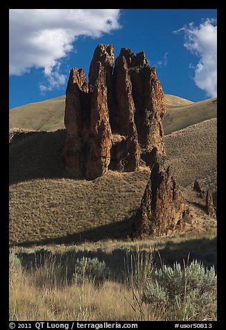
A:
<svg viewBox="0 0 226 330">
<path fill-rule="evenodd" d="M 208 97 L 217 94 L 217 26 L 214 19 L 206 19 L 199 27 L 190 23 L 174 33 L 184 32 L 184 47 L 198 56 L 195 67 L 195 84 L 207 93 Z"/>
</svg>

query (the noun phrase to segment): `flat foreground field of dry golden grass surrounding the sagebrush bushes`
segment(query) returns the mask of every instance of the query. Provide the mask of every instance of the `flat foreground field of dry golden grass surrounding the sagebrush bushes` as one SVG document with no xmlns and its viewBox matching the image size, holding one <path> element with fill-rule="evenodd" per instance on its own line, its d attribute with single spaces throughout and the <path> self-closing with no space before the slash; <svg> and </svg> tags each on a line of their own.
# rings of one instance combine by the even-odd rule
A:
<svg viewBox="0 0 226 330">
<path fill-rule="evenodd" d="M 195 258 L 205 266 L 216 265 L 216 239 L 170 239 L 155 238 L 128 244 L 105 241 L 73 246 L 49 245 L 45 247 L 46 253 L 51 253 L 52 257 L 44 257 L 43 265 L 37 263 L 34 253 L 40 250 L 39 247 L 15 248 L 23 268 L 10 277 L 10 320 L 184 320 L 182 313 L 173 308 L 162 309 L 159 313 L 155 306 L 144 302 L 140 285 L 150 276 L 146 269 L 150 269 L 151 263 L 157 267 L 157 264 L 172 264 L 175 260 L 182 262 L 191 249 L 196 250 L 196 254 L 190 254 L 190 261 Z M 82 256 L 105 261 L 113 277 L 98 284 L 86 277 L 80 284 L 71 282 L 68 274 L 74 264 L 73 258 Z M 125 277 L 130 266 L 133 271 L 129 270 Z M 216 303 L 213 303 L 215 309 Z M 198 320 L 198 315 L 192 315 L 191 320 Z M 214 312 L 211 320 L 216 320 Z"/>
</svg>

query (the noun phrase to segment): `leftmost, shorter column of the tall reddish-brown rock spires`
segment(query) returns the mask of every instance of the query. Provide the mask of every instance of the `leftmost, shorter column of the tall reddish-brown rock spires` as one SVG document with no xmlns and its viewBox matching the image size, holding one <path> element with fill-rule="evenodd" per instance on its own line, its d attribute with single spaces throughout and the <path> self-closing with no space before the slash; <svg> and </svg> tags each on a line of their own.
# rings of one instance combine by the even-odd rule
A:
<svg viewBox="0 0 226 330">
<path fill-rule="evenodd" d="M 66 169 L 76 177 L 85 174 L 85 148 L 89 141 L 89 85 L 85 72 L 71 69 L 67 84 L 64 124 L 67 138 L 64 144 Z"/>
</svg>

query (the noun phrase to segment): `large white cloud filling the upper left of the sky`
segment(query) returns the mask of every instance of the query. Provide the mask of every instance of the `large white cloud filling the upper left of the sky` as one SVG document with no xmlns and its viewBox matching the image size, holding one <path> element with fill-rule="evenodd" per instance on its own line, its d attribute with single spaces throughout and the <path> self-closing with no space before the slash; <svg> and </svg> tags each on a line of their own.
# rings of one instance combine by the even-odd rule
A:
<svg viewBox="0 0 226 330">
<path fill-rule="evenodd" d="M 119 9 L 10 9 L 10 75 L 43 68 L 48 87 L 64 84 L 60 60 L 76 37 L 100 37 L 120 28 Z"/>
</svg>

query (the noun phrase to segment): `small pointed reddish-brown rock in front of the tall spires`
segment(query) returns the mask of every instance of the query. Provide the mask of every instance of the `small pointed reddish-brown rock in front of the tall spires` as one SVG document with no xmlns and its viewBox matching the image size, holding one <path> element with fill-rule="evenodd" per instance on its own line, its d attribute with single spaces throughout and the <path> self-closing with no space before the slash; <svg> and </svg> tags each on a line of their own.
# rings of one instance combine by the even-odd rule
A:
<svg viewBox="0 0 226 330">
<path fill-rule="evenodd" d="M 134 217 L 133 236 L 165 236 L 182 229 L 184 222 L 189 223 L 189 218 L 191 214 L 170 167 L 156 162 Z"/>
</svg>

